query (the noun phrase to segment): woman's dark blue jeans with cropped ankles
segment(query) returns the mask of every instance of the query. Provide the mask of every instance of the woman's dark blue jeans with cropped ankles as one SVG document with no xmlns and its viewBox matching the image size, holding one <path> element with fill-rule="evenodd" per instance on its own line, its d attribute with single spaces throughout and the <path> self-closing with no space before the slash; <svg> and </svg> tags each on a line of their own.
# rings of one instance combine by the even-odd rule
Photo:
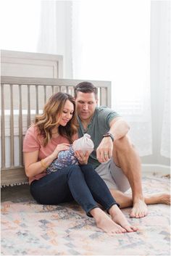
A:
<svg viewBox="0 0 171 256">
<path fill-rule="evenodd" d="M 93 208 L 99 207 L 97 203 L 107 211 L 117 204 L 106 183 L 89 164 L 70 165 L 33 181 L 30 193 L 42 205 L 58 205 L 75 199 L 88 216 Z"/>
</svg>

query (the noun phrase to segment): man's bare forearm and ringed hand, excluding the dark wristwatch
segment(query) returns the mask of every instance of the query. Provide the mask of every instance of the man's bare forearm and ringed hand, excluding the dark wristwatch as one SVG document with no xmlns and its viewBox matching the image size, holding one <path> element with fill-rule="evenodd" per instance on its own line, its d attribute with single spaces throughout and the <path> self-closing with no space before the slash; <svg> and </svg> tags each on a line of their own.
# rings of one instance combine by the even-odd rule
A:
<svg viewBox="0 0 171 256">
<path fill-rule="evenodd" d="M 117 139 L 121 139 L 128 133 L 130 129 L 128 123 L 126 123 L 125 120 L 122 119 L 122 117 L 115 117 L 109 123 L 109 127 L 109 133 L 112 134 L 114 141 Z M 109 158 L 112 157 L 113 143 L 114 142 L 112 141 L 110 136 L 104 137 L 101 140 L 101 143 L 96 149 L 96 156 L 99 162 L 107 162 Z"/>
</svg>

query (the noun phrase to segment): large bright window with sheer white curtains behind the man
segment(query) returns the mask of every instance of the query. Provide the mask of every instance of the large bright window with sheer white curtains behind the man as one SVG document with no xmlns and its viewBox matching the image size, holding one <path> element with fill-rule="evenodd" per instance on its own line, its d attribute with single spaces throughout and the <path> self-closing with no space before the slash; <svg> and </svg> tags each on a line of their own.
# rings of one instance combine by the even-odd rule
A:
<svg viewBox="0 0 171 256">
<path fill-rule="evenodd" d="M 111 80 L 112 107 L 151 154 L 150 1 L 72 1 L 73 78 Z"/>
</svg>

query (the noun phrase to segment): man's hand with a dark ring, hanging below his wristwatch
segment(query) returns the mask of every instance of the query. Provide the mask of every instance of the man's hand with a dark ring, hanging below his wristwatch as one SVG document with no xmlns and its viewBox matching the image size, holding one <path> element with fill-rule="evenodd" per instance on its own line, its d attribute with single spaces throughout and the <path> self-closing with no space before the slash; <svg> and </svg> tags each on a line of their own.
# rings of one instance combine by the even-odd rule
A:
<svg viewBox="0 0 171 256">
<path fill-rule="evenodd" d="M 104 137 L 98 148 L 96 149 L 96 156 L 99 162 L 107 162 L 112 157 L 113 141 L 110 137 Z"/>
</svg>

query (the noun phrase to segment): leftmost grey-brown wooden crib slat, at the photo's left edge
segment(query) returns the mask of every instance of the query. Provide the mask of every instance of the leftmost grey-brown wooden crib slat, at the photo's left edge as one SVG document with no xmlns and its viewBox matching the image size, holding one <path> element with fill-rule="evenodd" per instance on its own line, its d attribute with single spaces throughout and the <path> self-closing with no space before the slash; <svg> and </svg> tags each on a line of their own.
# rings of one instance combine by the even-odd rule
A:
<svg viewBox="0 0 171 256">
<path fill-rule="evenodd" d="M 4 84 L 1 84 L 1 168 L 5 168 Z"/>
</svg>

